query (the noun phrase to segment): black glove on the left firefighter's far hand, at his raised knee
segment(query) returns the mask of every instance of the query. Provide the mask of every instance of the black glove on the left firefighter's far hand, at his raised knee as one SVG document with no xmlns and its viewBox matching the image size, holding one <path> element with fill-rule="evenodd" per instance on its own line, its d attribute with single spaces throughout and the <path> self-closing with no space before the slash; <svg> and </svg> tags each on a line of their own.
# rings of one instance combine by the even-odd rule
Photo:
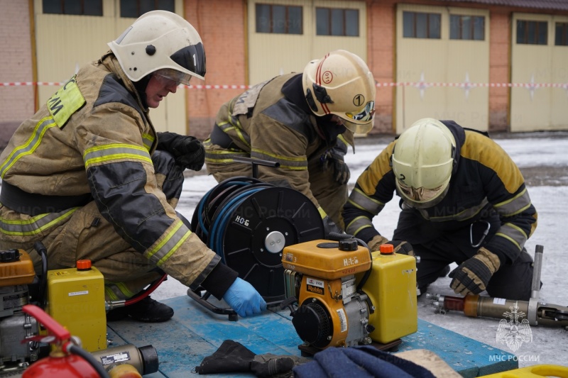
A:
<svg viewBox="0 0 568 378">
<path fill-rule="evenodd" d="M 199 171 L 205 163 L 202 143 L 190 135 L 158 133 L 158 150 L 170 152 L 175 162 L 184 169 Z"/>
</svg>

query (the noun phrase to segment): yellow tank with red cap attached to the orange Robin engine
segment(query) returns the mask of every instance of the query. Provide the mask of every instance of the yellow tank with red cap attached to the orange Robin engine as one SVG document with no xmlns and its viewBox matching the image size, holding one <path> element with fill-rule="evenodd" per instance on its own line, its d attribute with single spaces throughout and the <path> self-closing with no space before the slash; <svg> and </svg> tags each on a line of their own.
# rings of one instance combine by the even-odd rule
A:
<svg viewBox="0 0 568 378">
<path fill-rule="evenodd" d="M 389 343 L 418 330 L 416 301 L 416 260 L 392 252 L 392 245 L 381 245 L 373 252 L 371 274 L 363 291 L 375 307 L 369 335 L 378 343 Z M 359 277 L 361 278 L 361 277 Z"/>
</svg>

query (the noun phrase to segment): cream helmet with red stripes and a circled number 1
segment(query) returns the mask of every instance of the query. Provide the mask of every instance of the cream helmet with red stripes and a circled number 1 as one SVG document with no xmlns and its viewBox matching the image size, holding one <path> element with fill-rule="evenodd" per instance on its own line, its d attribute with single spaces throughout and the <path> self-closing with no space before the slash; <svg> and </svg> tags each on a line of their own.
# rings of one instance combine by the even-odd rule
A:
<svg viewBox="0 0 568 378">
<path fill-rule="evenodd" d="M 302 87 L 316 116 L 335 114 L 354 133 L 368 133 L 375 113 L 375 79 L 366 63 L 346 50 L 329 52 L 304 68 Z"/>
</svg>

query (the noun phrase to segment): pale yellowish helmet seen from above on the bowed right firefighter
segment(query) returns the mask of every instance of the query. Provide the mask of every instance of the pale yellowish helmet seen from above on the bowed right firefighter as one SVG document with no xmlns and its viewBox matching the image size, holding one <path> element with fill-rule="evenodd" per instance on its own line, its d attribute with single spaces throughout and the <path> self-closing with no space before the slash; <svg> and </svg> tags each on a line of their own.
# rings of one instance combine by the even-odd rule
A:
<svg viewBox="0 0 568 378">
<path fill-rule="evenodd" d="M 434 118 L 422 118 L 405 130 L 393 150 L 393 172 L 399 194 L 422 209 L 442 201 L 452 177 L 456 141 Z"/>
</svg>

